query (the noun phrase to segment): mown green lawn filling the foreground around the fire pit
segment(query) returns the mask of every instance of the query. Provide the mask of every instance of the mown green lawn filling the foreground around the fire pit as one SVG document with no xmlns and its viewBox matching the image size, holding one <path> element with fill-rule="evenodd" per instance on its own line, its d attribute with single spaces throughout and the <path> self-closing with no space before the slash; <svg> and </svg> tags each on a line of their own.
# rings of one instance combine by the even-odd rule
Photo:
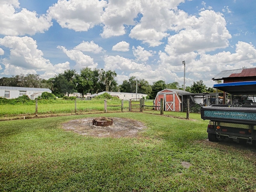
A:
<svg viewBox="0 0 256 192">
<path fill-rule="evenodd" d="M 256 191 L 254 146 L 208 142 L 199 114 L 166 115 L 104 114 L 144 122 L 138 138 L 62 129 L 63 122 L 102 114 L 2 121 L 0 191 Z"/>
</svg>

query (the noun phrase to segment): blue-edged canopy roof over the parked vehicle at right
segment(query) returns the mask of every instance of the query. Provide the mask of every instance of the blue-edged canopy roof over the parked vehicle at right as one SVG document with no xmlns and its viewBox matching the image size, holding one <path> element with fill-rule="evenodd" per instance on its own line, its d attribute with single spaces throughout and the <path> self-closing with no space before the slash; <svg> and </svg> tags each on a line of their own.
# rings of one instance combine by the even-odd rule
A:
<svg viewBox="0 0 256 192">
<path fill-rule="evenodd" d="M 256 94 L 256 81 L 220 83 L 213 87 L 230 94 Z"/>
</svg>

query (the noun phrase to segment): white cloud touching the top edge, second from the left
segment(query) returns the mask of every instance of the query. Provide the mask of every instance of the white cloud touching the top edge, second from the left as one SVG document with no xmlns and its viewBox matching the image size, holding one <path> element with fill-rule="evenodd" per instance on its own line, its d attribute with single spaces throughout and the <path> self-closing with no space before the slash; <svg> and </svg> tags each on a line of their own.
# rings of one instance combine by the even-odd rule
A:
<svg viewBox="0 0 256 192">
<path fill-rule="evenodd" d="M 58 0 L 49 8 L 48 14 L 62 28 L 88 31 L 102 23 L 103 8 L 106 5 L 105 0 Z"/>
</svg>

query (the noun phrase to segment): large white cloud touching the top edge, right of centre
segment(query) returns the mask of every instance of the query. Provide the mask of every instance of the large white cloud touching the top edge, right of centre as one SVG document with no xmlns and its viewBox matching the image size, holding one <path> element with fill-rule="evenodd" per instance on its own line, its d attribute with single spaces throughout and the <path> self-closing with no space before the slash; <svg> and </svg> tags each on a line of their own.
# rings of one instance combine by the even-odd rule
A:
<svg viewBox="0 0 256 192">
<path fill-rule="evenodd" d="M 177 9 L 181 2 L 184 0 L 142 0 L 143 17 L 140 23 L 132 28 L 129 36 L 149 46 L 159 46 L 162 44 L 161 40 L 169 36 L 167 31 L 176 30 L 177 26 L 180 27 L 180 21 L 184 20 L 186 14 Z"/>
</svg>

